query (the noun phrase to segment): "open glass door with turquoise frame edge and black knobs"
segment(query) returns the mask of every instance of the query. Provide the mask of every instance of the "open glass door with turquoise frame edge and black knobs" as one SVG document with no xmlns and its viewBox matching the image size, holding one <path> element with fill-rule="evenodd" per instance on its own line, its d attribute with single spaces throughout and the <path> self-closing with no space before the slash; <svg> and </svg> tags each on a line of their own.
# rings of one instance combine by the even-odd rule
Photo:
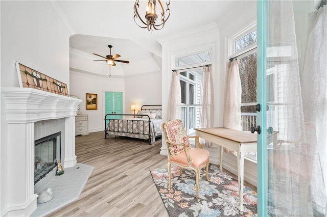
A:
<svg viewBox="0 0 327 217">
<path fill-rule="evenodd" d="M 327 6 L 317 9 L 320 2 L 257 2 L 258 216 L 326 213 Z"/>
</svg>

